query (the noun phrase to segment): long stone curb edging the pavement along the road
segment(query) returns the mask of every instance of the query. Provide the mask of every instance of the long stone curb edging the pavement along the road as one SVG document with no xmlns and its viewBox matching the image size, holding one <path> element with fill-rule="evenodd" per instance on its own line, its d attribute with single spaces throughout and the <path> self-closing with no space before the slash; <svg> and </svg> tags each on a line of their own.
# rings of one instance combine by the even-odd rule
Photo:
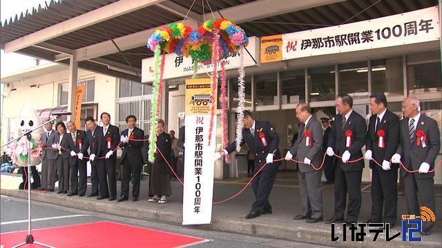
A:
<svg viewBox="0 0 442 248">
<path fill-rule="evenodd" d="M 18 189 L 1 189 L 0 194 L 15 198 L 27 199 L 28 194 Z M 95 211 L 102 214 L 111 214 L 141 220 L 151 220 L 159 223 L 169 223 L 173 225 L 182 225 L 182 214 L 167 209 L 157 210 L 144 207 L 133 207 L 124 204 L 111 204 L 97 200 L 84 200 L 84 198 L 70 198 L 57 194 L 32 194 L 32 200 L 43 203 L 50 203 L 74 209 L 86 211 Z M 423 242 L 402 242 L 401 236 L 391 242 L 385 241 L 385 234 L 380 234 L 376 242 L 372 241 L 374 234 L 368 232 L 364 241 L 351 242 L 351 231 L 347 229 L 347 242 L 342 241 L 342 226 L 336 225 L 336 235 L 340 236 L 338 241 L 332 241 L 331 227 L 328 225 L 319 225 L 312 228 L 308 226 L 290 227 L 287 225 L 275 225 L 255 220 L 242 220 L 238 218 L 213 216 L 211 225 L 194 225 L 196 229 L 208 229 L 213 231 L 225 231 L 235 234 L 244 234 L 249 236 L 260 236 L 265 238 L 274 238 L 282 240 L 291 240 L 296 242 L 308 242 L 318 245 L 330 245 L 338 247 L 441 247 L 442 234 L 434 233 L 431 236 L 425 236 Z M 398 230 L 401 231 L 401 230 Z M 357 233 L 357 231 L 356 231 Z M 390 236 L 396 234 L 392 231 Z M 438 240 L 439 239 L 439 240 Z"/>
</svg>

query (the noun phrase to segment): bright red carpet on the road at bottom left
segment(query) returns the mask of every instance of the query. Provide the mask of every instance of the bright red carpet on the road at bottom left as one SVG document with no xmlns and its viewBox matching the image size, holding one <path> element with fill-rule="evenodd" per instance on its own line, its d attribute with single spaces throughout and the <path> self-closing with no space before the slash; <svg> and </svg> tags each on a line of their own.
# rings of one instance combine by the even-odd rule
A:
<svg viewBox="0 0 442 248">
<path fill-rule="evenodd" d="M 3 247 L 24 242 L 28 231 L 0 234 Z M 52 247 L 185 247 L 208 240 L 108 221 L 32 230 L 35 241 Z M 23 247 L 40 248 L 37 244 Z"/>
</svg>

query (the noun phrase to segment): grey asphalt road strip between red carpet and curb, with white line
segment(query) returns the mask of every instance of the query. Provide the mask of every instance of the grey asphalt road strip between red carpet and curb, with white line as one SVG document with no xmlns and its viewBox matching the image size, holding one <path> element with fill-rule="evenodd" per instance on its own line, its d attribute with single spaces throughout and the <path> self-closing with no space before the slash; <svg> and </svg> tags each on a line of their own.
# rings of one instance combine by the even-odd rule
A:
<svg viewBox="0 0 442 248">
<path fill-rule="evenodd" d="M 11 198 L 9 196 L 1 196 L 0 200 L 0 232 L 5 233 L 10 231 L 27 230 L 28 202 L 26 200 Z M 66 225 L 107 220 L 114 223 L 145 227 L 159 231 L 168 231 L 174 234 L 195 236 L 211 240 L 210 242 L 205 242 L 193 247 L 325 247 L 304 242 L 260 238 L 221 231 L 207 231 L 189 226 L 155 223 L 147 220 L 111 216 L 37 202 L 32 203 L 32 220 L 32 229 L 62 227 Z"/>
</svg>

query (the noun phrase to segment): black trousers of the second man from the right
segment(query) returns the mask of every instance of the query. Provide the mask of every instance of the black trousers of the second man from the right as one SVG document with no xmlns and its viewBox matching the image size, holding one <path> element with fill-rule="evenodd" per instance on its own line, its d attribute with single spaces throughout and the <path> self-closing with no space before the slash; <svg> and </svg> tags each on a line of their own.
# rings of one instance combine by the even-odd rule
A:
<svg viewBox="0 0 442 248">
<path fill-rule="evenodd" d="M 384 171 L 378 165 L 372 169 L 372 215 L 373 223 L 394 225 L 397 218 L 398 169 Z"/>
</svg>

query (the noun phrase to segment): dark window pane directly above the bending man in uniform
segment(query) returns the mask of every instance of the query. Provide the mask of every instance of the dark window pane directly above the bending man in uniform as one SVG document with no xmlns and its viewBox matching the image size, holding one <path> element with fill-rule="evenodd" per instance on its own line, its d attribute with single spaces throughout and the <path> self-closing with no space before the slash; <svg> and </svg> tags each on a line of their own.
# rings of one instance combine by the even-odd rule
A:
<svg viewBox="0 0 442 248">
<path fill-rule="evenodd" d="M 277 72 L 255 76 L 255 105 L 278 105 Z"/>
</svg>

